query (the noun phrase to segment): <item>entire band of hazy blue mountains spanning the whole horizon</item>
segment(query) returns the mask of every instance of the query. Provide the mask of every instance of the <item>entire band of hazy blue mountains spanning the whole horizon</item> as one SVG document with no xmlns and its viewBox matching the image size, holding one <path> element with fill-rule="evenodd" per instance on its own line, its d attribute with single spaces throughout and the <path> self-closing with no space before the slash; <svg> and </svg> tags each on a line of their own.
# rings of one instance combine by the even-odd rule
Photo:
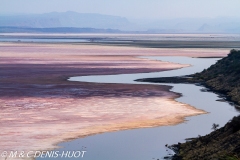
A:
<svg viewBox="0 0 240 160">
<path fill-rule="evenodd" d="M 51 12 L 0 15 L 0 27 L 95 28 L 145 33 L 240 33 L 240 18 L 127 19 L 95 13 Z"/>
</svg>

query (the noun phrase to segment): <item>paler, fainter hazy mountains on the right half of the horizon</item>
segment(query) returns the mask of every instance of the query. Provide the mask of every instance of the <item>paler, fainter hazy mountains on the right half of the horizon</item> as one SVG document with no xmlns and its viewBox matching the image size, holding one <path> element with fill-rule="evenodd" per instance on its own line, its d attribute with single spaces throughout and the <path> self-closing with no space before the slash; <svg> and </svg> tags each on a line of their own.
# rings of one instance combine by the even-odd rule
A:
<svg viewBox="0 0 240 160">
<path fill-rule="evenodd" d="M 178 18 L 144 21 L 134 21 L 155 33 L 240 33 L 240 18 Z"/>
</svg>

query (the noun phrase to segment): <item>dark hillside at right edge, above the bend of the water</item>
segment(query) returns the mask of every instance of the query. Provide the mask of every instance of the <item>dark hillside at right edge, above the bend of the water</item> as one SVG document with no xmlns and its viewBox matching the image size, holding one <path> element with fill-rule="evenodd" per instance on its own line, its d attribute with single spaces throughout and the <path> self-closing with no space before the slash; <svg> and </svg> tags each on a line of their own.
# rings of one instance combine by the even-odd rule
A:
<svg viewBox="0 0 240 160">
<path fill-rule="evenodd" d="M 192 81 L 204 82 L 207 87 L 226 94 L 230 100 L 240 104 L 240 51 L 231 50 L 215 65 L 194 74 Z"/>
</svg>

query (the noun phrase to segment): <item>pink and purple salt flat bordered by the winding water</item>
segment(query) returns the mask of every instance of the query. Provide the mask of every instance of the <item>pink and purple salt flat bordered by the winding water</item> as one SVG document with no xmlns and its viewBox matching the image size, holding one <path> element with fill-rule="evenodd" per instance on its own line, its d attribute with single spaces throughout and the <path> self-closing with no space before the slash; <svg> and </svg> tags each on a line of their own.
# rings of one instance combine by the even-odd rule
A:
<svg viewBox="0 0 240 160">
<path fill-rule="evenodd" d="M 81 75 L 186 67 L 137 56 L 225 56 L 228 49 L 159 49 L 83 44 L 0 43 L 0 148 L 46 150 L 81 136 L 173 125 L 205 113 L 168 86 L 69 82 Z M 167 106 L 167 108 L 166 108 Z"/>
</svg>

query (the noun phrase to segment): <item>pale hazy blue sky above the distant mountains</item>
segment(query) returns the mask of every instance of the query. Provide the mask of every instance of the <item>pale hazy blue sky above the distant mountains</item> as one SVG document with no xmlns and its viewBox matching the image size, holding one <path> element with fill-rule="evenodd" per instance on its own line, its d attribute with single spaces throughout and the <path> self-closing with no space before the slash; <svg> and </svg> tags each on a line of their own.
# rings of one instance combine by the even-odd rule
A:
<svg viewBox="0 0 240 160">
<path fill-rule="evenodd" d="M 127 18 L 240 16 L 240 0 L 0 0 L 0 13 L 76 11 Z"/>
</svg>

